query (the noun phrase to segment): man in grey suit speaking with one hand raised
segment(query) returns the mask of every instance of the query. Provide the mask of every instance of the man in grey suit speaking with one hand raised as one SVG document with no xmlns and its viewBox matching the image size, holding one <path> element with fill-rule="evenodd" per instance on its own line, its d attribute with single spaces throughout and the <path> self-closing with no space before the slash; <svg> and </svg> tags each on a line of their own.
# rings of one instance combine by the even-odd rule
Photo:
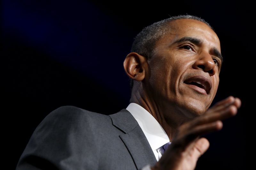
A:
<svg viewBox="0 0 256 170">
<path fill-rule="evenodd" d="M 208 109 L 221 64 L 218 36 L 201 18 L 172 17 L 144 28 L 124 60 L 130 105 L 109 116 L 54 110 L 17 169 L 194 169 L 209 147 L 200 136 L 220 130 L 241 105 L 230 96 Z"/>
</svg>

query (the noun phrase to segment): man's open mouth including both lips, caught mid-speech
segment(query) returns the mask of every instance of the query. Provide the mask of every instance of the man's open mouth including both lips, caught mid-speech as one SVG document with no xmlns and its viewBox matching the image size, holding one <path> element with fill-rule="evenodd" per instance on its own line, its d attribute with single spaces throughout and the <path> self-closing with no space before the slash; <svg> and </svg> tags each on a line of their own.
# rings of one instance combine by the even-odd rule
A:
<svg viewBox="0 0 256 170">
<path fill-rule="evenodd" d="M 201 93 L 207 93 L 207 94 L 209 94 L 212 87 L 211 81 L 204 76 L 195 76 L 195 77 L 188 78 L 187 80 L 184 81 L 184 83 L 187 85 L 191 85 L 191 87 L 194 87 L 195 90 Z M 197 87 L 199 87 L 200 89 Z"/>
</svg>

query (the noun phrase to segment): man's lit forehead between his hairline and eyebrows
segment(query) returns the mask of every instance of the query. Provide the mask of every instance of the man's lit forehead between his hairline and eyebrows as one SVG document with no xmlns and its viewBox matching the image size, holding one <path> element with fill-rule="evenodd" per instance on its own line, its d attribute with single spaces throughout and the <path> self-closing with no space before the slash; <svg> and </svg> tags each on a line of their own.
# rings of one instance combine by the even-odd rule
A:
<svg viewBox="0 0 256 170">
<path fill-rule="evenodd" d="M 172 44 L 182 37 L 193 37 L 202 40 L 204 45 L 217 48 L 220 51 L 220 40 L 217 34 L 205 23 L 194 19 L 177 19 L 168 24 L 170 30 L 157 44 Z"/>
</svg>

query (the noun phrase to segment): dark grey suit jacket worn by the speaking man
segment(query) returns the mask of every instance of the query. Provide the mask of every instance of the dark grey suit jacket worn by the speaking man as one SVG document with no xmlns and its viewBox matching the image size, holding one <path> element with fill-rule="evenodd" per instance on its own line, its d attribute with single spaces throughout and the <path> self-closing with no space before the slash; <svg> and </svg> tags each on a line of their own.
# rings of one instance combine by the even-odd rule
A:
<svg viewBox="0 0 256 170">
<path fill-rule="evenodd" d="M 63 106 L 38 125 L 16 169 L 131 170 L 156 162 L 138 122 L 126 109 L 102 115 Z"/>
</svg>

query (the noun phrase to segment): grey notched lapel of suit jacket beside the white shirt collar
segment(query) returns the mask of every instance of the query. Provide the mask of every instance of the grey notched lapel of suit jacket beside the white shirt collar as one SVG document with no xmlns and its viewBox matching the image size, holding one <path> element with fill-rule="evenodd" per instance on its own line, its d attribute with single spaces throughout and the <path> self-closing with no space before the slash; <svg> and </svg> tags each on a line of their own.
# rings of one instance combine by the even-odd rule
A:
<svg viewBox="0 0 256 170">
<path fill-rule="evenodd" d="M 156 157 L 146 136 L 131 113 L 123 109 L 109 116 L 113 125 L 124 132 L 119 137 L 129 150 L 137 169 L 141 169 L 147 164 L 153 166 L 157 162 Z"/>
</svg>

